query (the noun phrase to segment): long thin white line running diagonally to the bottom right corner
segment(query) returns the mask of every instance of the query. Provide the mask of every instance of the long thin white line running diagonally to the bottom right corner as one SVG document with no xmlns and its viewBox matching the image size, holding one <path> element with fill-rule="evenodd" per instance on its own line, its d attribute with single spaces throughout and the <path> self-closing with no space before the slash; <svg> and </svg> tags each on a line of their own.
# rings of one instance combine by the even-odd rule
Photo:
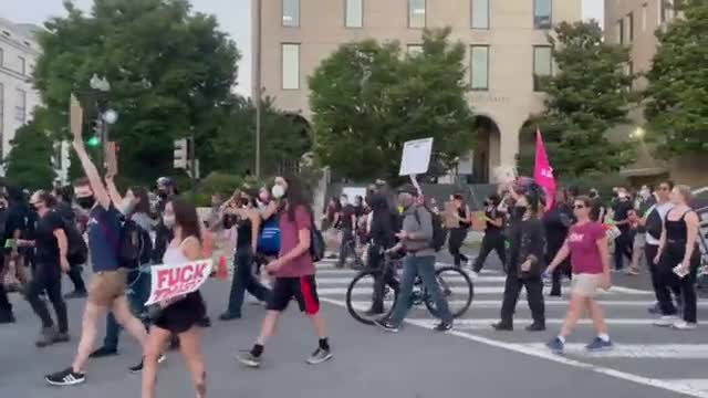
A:
<svg viewBox="0 0 708 398">
<path fill-rule="evenodd" d="M 343 301 L 332 300 L 327 297 L 320 297 L 320 300 L 333 305 L 346 307 L 346 304 Z M 427 321 L 427 320 L 424 320 L 424 321 Z M 405 322 L 412 325 L 420 326 L 420 327 L 427 326 L 427 324 L 416 323 L 415 320 L 406 320 Z M 643 386 L 660 388 L 660 389 L 671 391 L 671 392 L 677 392 L 677 394 L 685 394 L 696 398 L 708 398 L 708 391 L 701 391 L 700 389 L 693 388 L 689 385 L 681 384 L 681 383 L 674 383 L 671 380 L 663 380 L 663 379 L 655 379 L 650 377 L 638 376 L 631 373 L 616 370 L 610 367 L 597 366 L 597 365 L 584 363 L 576 359 L 570 359 L 563 356 L 552 354 L 548 349 L 538 349 L 538 348 L 525 347 L 521 345 L 508 344 L 504 342 L 482 337 L 479 335 L 472 335 L 472 334 L 460 332 L 460 331 L 450 331 L 446 333 L 471 341 L 471 342 L 485 344 L 491 347 L 497 347 L 497 348 L 514 352 L 518 354 L 523 354 L 523 355 L 528 355 L 528 356 L 532 356 L 541 359 L 546 359 L 561 365 L 568 365 L 568 366 L 576 367 L 580 369 L 586 369 L 596 374 L 611 376 L 614 378 L 632 381 Z"/>
</svg>

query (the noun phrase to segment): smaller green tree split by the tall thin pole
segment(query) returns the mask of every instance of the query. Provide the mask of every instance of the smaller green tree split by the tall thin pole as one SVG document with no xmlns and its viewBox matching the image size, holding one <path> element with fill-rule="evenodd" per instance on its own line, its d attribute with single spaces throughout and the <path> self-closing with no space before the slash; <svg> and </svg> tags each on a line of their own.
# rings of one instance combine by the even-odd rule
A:
<svg viewBox="0 0 708 398">
<path fill-rule="evenodd" d="M 256 105 L 235 96 L 223 109 L 225 121 L 210 139 L 211 169 L 239 176 L 256 165 Z M 283 163 L 298 164 L 311 148 L 310 128 L 295 115 L 285 114 L 266 97 L 261 104 L 261 171 L 273 175 Z"/>
</svg>

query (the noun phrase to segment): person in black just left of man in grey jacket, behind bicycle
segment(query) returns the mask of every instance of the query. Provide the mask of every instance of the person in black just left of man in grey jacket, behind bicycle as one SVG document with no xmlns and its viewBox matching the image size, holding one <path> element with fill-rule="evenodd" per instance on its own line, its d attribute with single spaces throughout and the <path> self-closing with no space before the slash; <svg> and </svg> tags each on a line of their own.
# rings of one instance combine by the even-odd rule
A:
<svg viewBox="0 0 708 398">
<path fill-rule="evenodd" d="M 372 208 L 372 223 L 368 231 L 368 268 L 383 271 L 384 253 L 396 244 L 394 228 L 392 226 L 388 200 L 383 193 L 372 192 L 367 199 Z M 398 281 L 394 277 L 395 270 L 376 273 L 374 275 L 374 294 L 372 296 L 372 307 L 367 315 L 384 313 L 384 286 L 388 284 L 398 289 Z"/>
</svg>

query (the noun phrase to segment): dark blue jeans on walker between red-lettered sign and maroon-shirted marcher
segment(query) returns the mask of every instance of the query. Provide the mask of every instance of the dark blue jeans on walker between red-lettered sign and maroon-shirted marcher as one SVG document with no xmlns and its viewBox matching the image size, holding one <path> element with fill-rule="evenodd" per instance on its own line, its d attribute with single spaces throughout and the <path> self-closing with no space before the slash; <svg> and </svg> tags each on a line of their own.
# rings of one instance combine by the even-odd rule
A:
<svg viewBox="0 0 708 398">
<path fill-rule="evenodd" d="M 231 292 L 229 293 L 229 307 L 227 308 L 227 313 L 233 316 L 241 316 L 246 291 L 259 301 L 264 302 L 268 301 L 270 296 L 270 290 L 258 282 L 251 273 L 253 256 L 251 255 L 250 249 L 237 249 L 233 263 L 233 279 L 231 279 Z"/>
</svg>

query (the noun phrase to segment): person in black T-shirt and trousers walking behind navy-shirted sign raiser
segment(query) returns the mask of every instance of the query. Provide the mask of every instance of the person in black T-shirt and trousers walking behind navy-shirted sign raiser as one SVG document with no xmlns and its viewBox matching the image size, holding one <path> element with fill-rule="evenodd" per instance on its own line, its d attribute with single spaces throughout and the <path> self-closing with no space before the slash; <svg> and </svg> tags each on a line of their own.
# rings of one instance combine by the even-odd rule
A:
<svg viewBox="0 0 708 398">
<path fill-rule="evenodd" d="M 69 242 L 64 221 L 58 212 L 52 210 L 54 198 L 49 192 L 43 190 L 34 192 L 30 205 L 37 209 L 39 222 L 34 241 L 31 242 L 37 254 L 37 265 L 32 281 L 27 285 L 25 295 L 32 310 L 42 321 L 42 332 L 37 346 L 45 347 L 54 343 L 69 342 L 66 303 L 62 297 L 62 272 L 69 272 L 70 269 L 66 260 Z M 40 298 L 40 294 L 44 291 L 56 312 L 58 328 L 54 328 L 46 304 Z"/>
</svg>

